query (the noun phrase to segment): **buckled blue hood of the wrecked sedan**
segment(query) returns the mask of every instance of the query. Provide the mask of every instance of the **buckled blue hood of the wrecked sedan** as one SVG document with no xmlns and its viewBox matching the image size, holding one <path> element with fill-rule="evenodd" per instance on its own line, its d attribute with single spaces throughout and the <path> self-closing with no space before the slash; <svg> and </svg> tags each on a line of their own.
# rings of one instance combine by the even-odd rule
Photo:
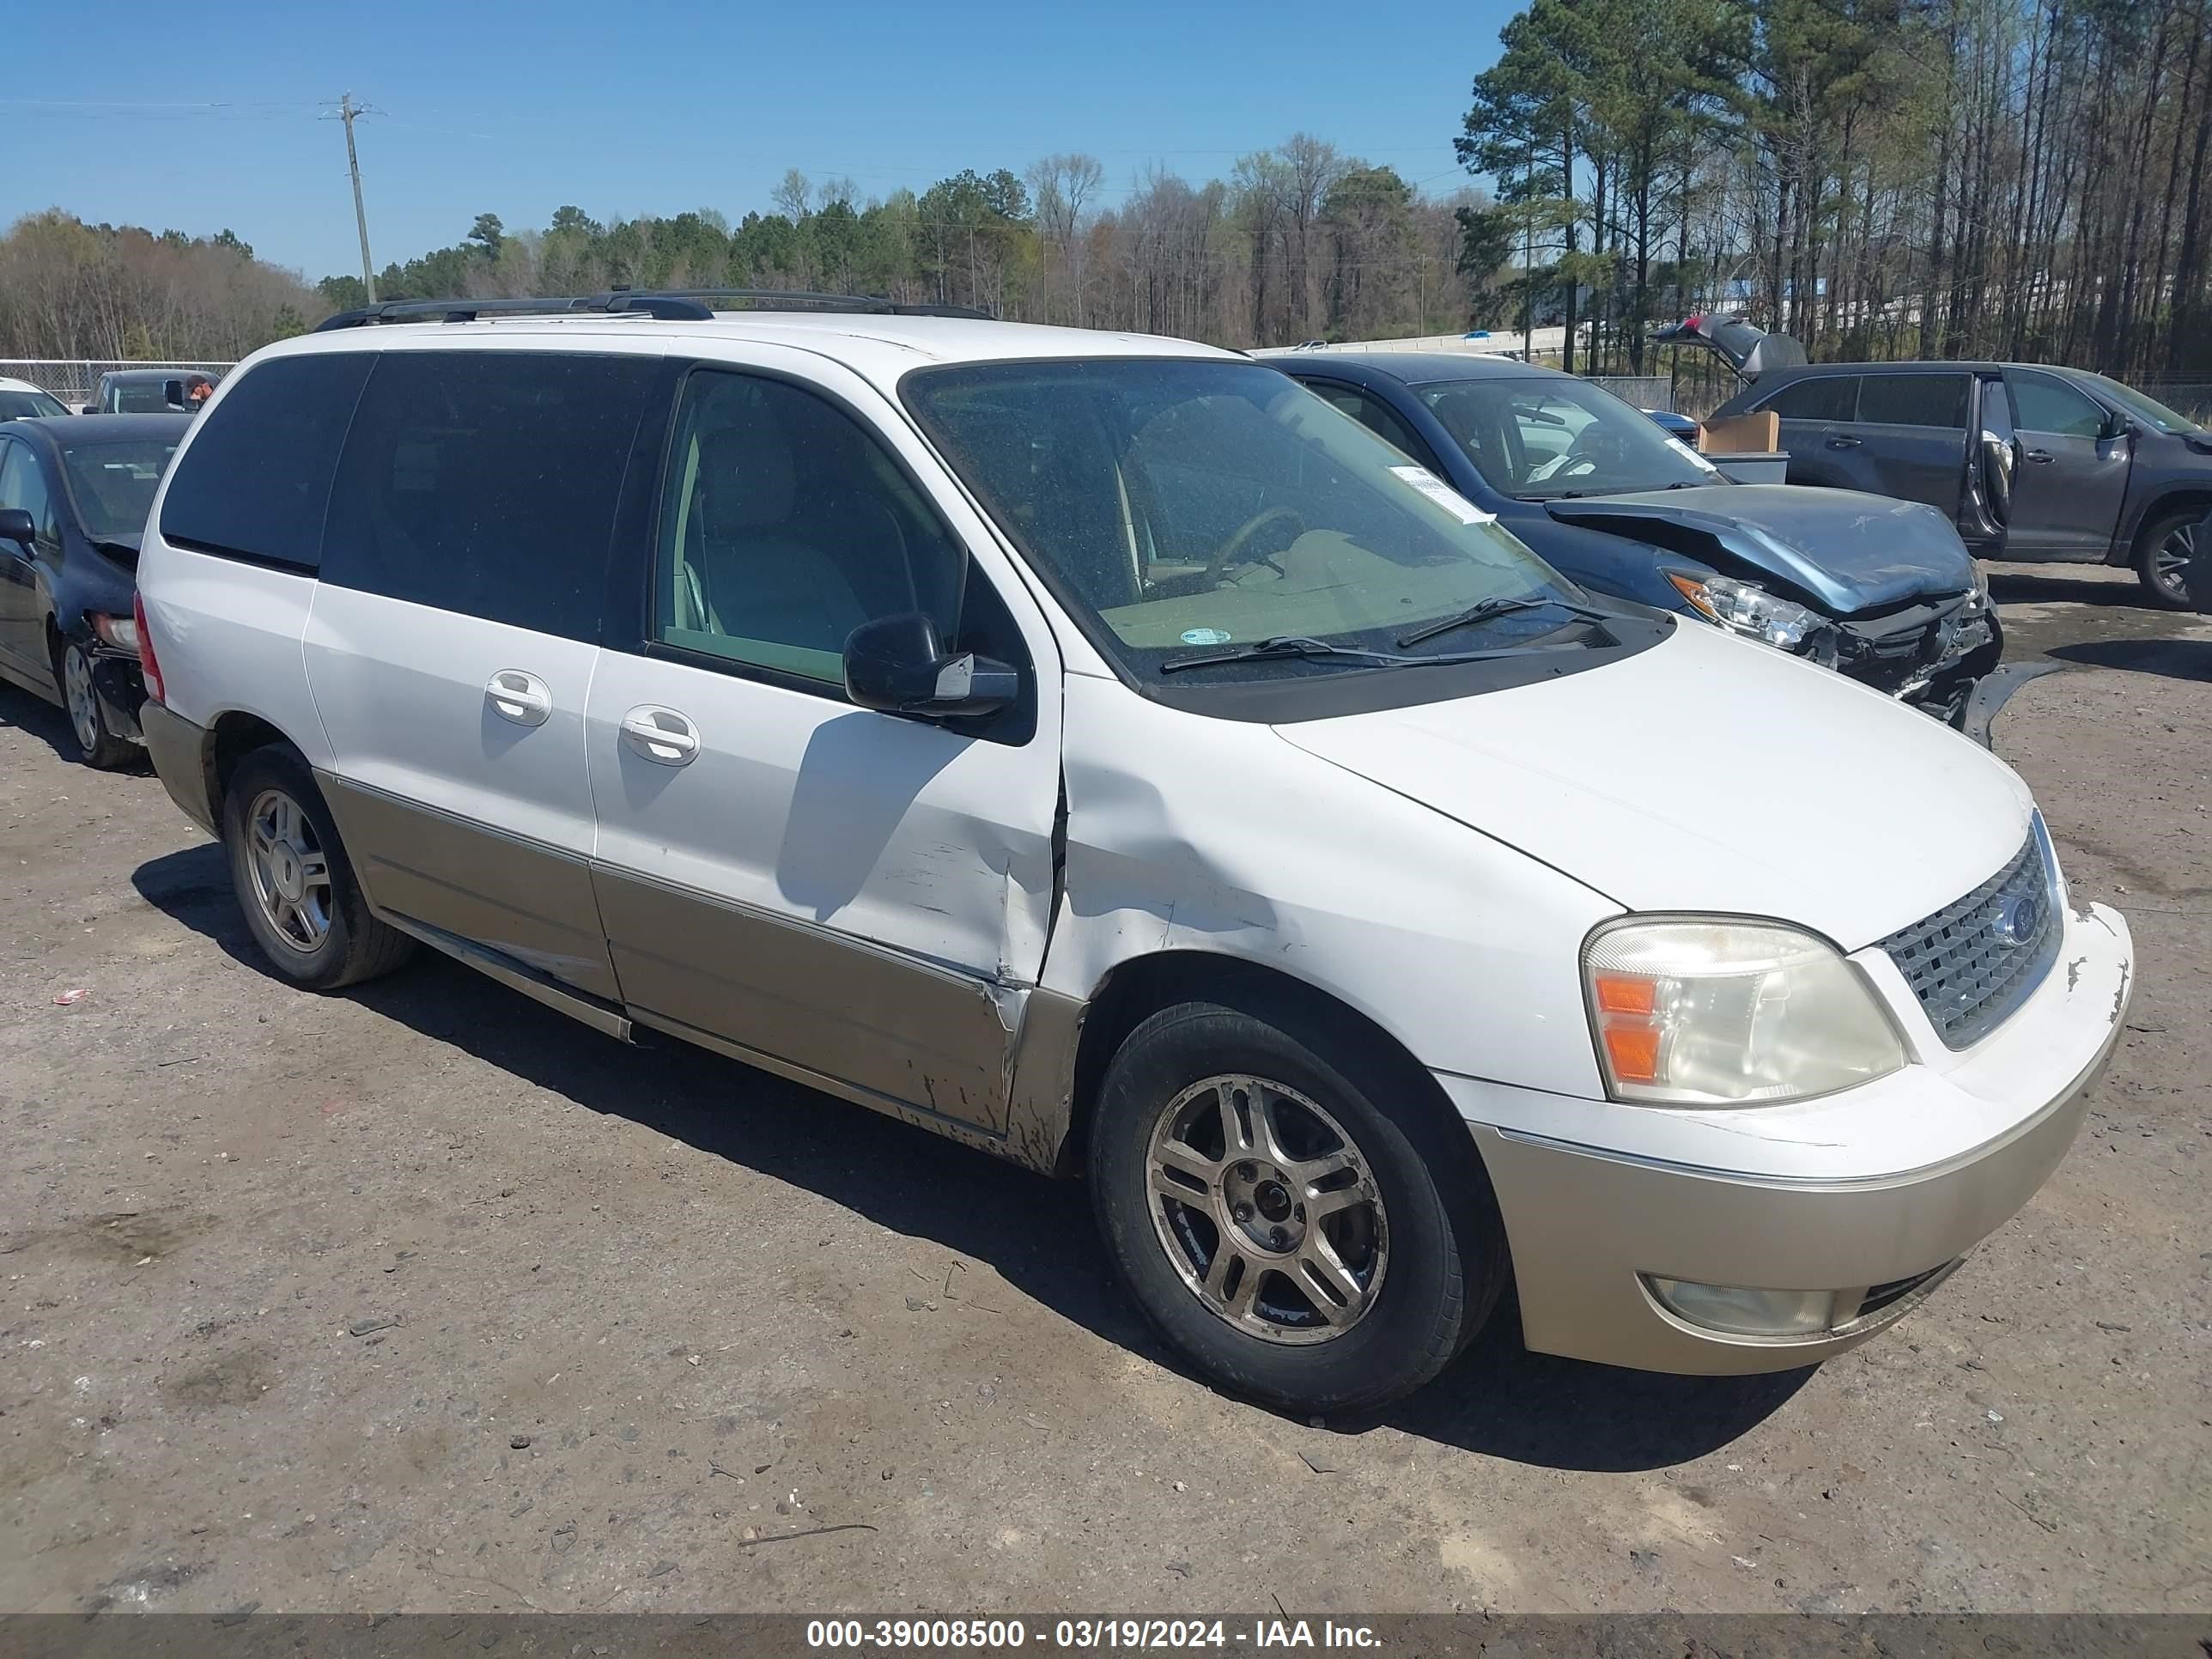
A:
<svg viewBox="0 0 2212 1659">
<path fill-rule="evenodd" d="M 1626 535 L 1719 571 L 1765 571 L 1832 617 L 1973 586 L 1973 555 L 1942 513 L 1856 489 L 1697 484 L 1544 509 L 1562 524 Z"/>
</svg>

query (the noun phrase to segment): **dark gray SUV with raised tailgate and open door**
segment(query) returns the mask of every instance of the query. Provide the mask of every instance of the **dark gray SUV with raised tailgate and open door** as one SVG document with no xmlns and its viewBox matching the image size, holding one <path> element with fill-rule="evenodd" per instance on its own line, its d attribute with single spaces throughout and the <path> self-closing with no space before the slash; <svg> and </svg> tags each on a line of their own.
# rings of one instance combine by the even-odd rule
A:
<svg viewBox="0 0 2212 1659">
<path fill-rule="evenodd" d="M 2132 387 L 2028 363 L 1807 363 L 1719 414 L 1772 409 L 1792 484 L 1929 502 L 1991 560 L 2130 564 L 2161 606 L 2212 509 L 2212 431 Z"/>
</svg>

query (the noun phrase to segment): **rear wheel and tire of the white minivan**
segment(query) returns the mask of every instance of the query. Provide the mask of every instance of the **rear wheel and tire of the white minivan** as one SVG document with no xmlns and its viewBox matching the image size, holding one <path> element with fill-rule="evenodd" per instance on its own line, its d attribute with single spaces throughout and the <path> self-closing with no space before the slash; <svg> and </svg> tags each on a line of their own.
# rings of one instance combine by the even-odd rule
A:
<svg viewBox="0 0 2212 1659">
<path fill-rule="evenodd" d="M 369 914 L 338 830 L 296 750 L 239 761 L 223 794 L 223 852 L 263 960 L 303 991 L 389 973 L 414 940 Z"/>
</svg>

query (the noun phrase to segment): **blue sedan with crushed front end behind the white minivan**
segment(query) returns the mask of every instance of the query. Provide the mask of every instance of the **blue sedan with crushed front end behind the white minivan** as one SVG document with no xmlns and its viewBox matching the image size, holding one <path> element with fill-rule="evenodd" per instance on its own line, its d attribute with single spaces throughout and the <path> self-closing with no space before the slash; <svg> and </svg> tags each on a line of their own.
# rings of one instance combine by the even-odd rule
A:
<svg viewBox="0 0 2212 1659">
<path fill-rule="evenodd" d="M 1265 361 L 1586 588 L 1763 639 L 1953 723 L 2004 653 L 1989 586 L 1929 507 L 1730 482 L 1604 387 L 1511 358 Z"/>
</svg>

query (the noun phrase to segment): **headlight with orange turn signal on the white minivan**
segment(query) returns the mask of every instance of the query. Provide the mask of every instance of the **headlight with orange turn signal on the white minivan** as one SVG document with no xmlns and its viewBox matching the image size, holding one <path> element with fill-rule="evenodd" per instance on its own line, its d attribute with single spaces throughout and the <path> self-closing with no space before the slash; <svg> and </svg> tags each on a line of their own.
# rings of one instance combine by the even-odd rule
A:
<svg viewBox="0 0 2212 1659">
<path fill-rule="evenodd" d="M 1606 1093 L 1663 1106 L 1770 1106 L 1905 1064 L 1874 989 L 1783 922 L 1615 922 L 1582 947 Z"/>
</svg>

